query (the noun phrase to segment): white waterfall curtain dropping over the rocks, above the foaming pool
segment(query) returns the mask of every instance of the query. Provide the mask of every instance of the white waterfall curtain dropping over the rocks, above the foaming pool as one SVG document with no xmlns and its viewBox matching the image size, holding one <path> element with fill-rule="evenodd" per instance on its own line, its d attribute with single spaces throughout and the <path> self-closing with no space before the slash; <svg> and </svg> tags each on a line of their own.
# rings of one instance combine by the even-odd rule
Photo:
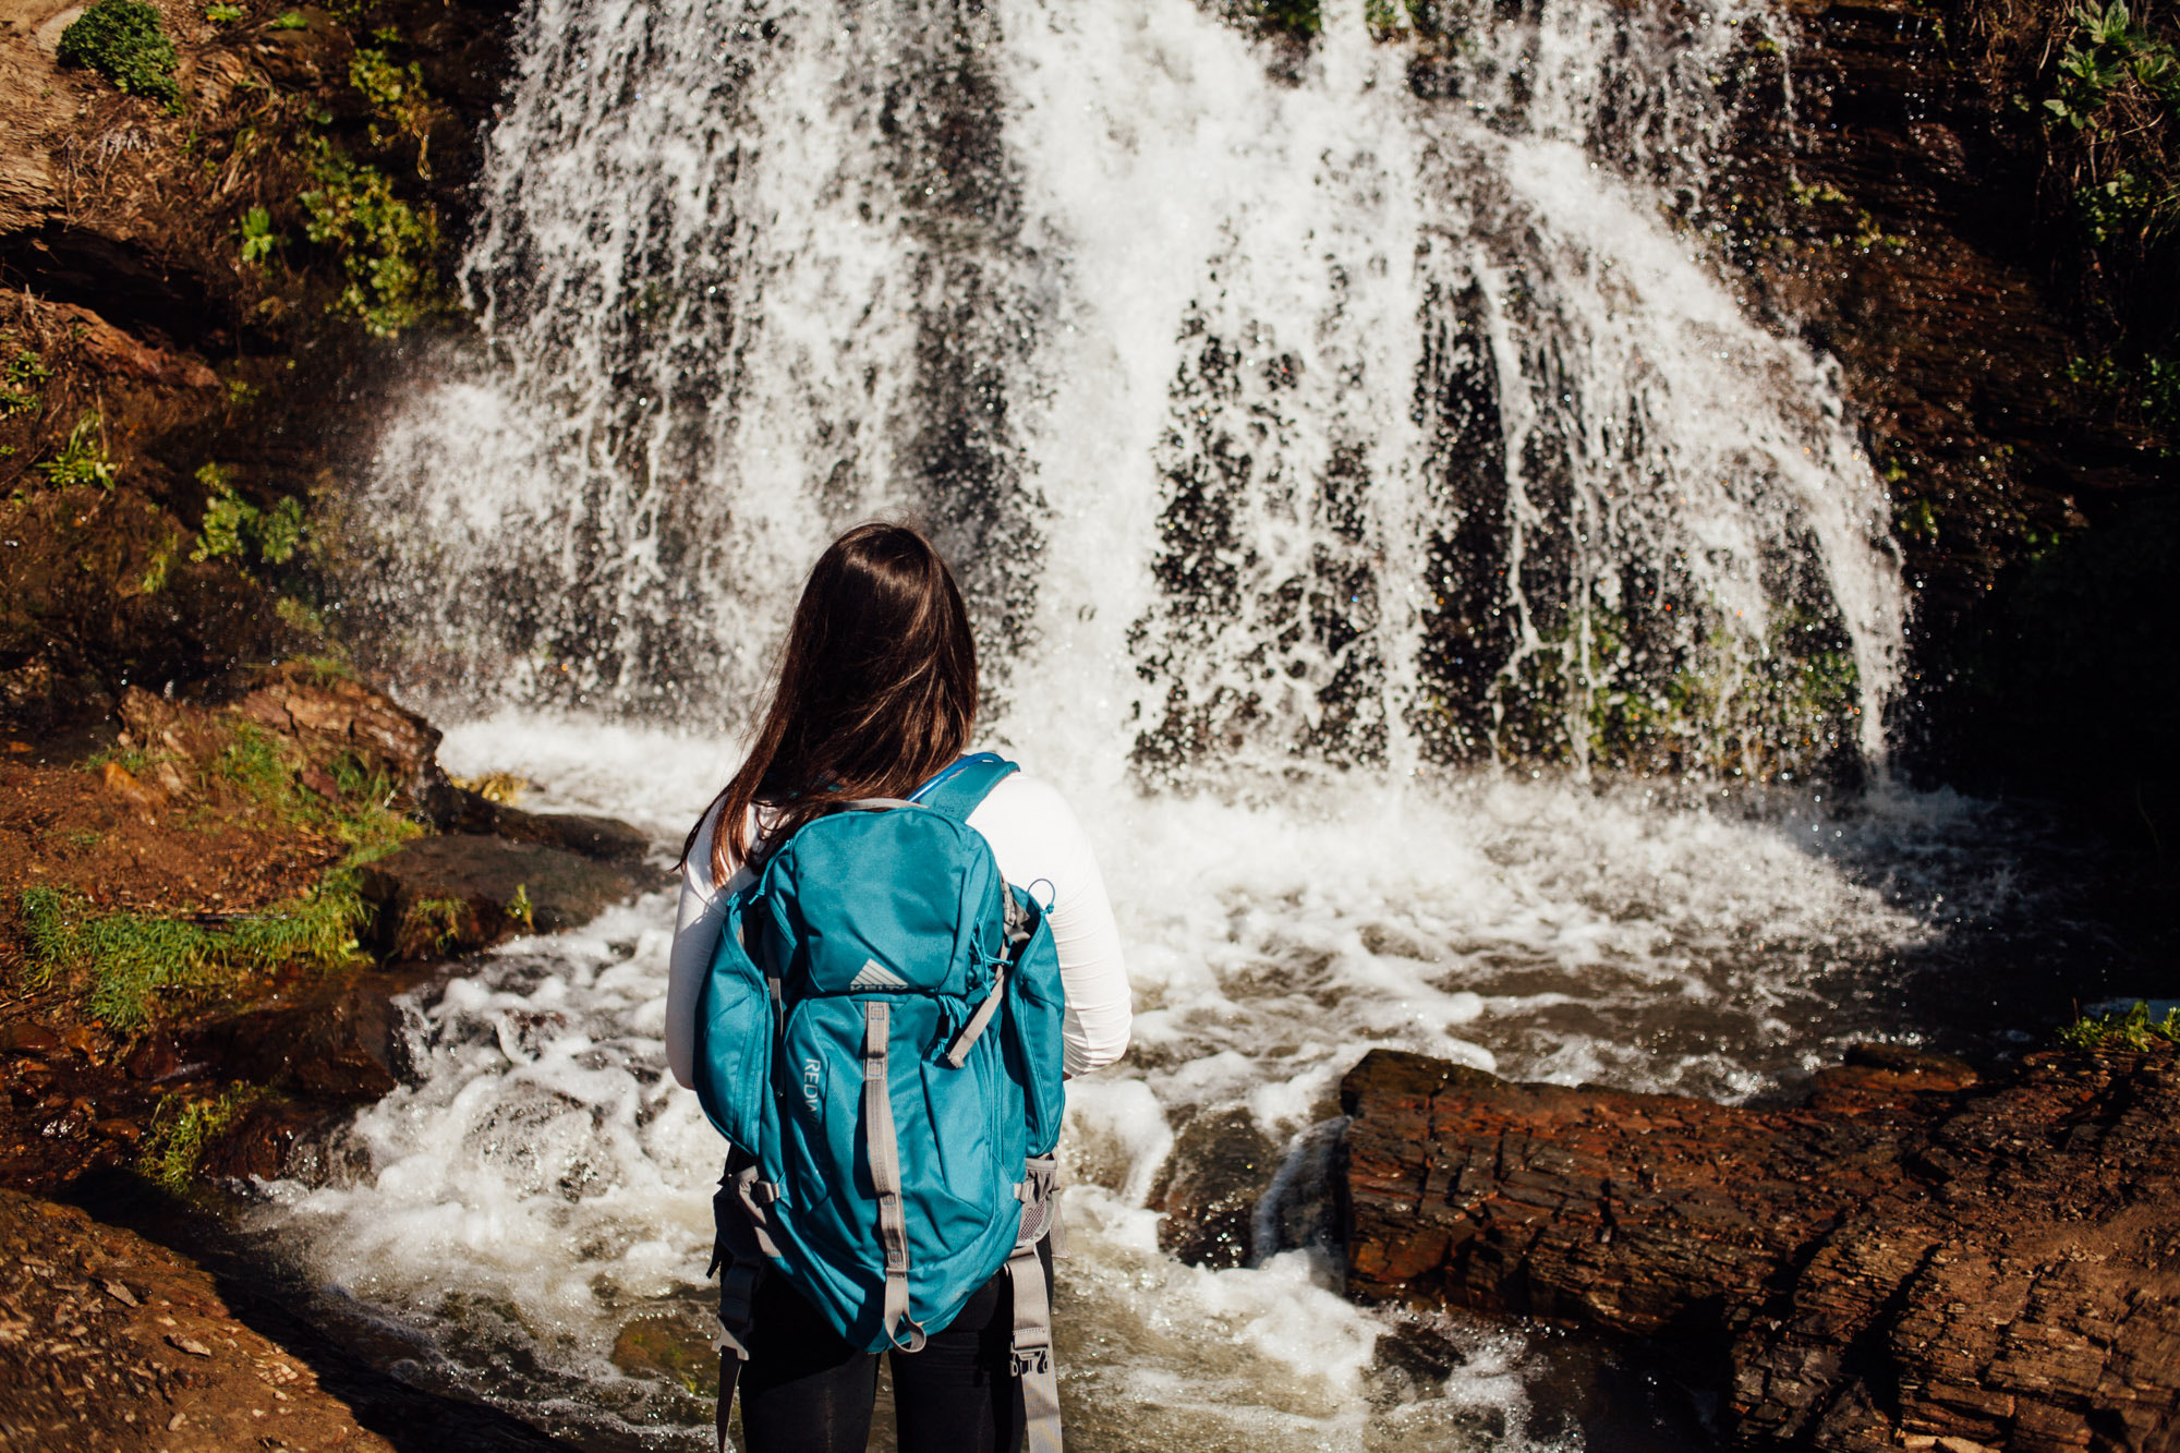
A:
<svg viewBox="0 0 2180 1453">
<path fill-rule="evenodd" d="M 536 0 L 358 511 L 388 657 L 732 726 L 907 515 L 996 733 L 1101 779 L 1879 759 L 1884 491 L 1676 220 L 1740 4 Z"/>
</svg>

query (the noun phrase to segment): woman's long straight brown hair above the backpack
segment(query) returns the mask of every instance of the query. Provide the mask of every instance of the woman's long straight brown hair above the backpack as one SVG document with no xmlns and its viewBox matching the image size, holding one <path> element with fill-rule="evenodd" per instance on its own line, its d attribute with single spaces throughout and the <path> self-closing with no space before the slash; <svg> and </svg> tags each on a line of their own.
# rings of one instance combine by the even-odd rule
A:
<svg viewBox="0 0 2180 1453">
<path fill-rule="evenodd" d="M 844 801 L 907 796 L 961 755 L 974 722 L 977 644 L 946 561 L 909 526 L 855 526 L 811 567 L 765 724 L 713 798 L 713 886 L 761 857 L 754 803 L 778 809 L 765 842 L 785 842 Z"/>
</svg>

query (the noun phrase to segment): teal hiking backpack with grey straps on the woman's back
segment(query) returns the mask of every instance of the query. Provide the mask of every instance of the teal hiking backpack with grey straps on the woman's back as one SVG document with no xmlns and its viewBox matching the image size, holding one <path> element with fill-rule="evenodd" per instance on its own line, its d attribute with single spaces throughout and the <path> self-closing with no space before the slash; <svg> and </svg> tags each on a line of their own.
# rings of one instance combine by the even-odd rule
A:
<svg viewBox="0 0 2180 1453">
<path fill-rule="evenodd" d="M 1005 1265 L 1029 1446 L 1059 1449 L 1038 1241 L 1066 997 L 1044 908 L 968 827 L 1014 770 L 977 753 L 907 801 L 846 803 L 726 901 L 695 1008 L 698 1100 L 732 1145 L 722 1446 L 767 1272 L 850 1344 L 913 1353 Z"/>
</svg>

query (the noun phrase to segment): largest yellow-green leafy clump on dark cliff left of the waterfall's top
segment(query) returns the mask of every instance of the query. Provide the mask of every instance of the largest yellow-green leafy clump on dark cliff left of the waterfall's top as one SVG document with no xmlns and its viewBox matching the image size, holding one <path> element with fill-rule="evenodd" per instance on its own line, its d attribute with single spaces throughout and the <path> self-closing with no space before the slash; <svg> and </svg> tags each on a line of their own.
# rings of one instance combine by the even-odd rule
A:
<svg viewBox="0 0 2180 1453">
<path fill-rule="evenodd" d="M 305 233 L 340 257 L 347 286 L 336 308 L 390 338 L 438 310 L 438 218 L 395 196 L 386 172 L 351 159 L 325 137 L 312 137 L 310 177 L 301 194 Z"/>
</svg>

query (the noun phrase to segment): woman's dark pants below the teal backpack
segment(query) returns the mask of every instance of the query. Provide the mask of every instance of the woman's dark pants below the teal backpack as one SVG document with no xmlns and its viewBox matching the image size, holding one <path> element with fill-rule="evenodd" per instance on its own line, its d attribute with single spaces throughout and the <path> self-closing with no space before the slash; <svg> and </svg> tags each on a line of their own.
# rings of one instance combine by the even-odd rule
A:
<svg viewBox="0 0 2180 1453">
<path fill-rule="evenodd" d="M 1051 1241 L 1038 1257 L 1051 1285 Z M 1014 1289 L 1001 1270 L 920 1353 L 887 1353 L 900 1453 L 1018 1453 L 1022 1394 L 1012 1355 Z M 841 1340 L 783 1276 L 765 1276 L 737 1388 L 748 1453 L 863 1453 L 876 1396 L 879 1355 Z"/>
</svg>

